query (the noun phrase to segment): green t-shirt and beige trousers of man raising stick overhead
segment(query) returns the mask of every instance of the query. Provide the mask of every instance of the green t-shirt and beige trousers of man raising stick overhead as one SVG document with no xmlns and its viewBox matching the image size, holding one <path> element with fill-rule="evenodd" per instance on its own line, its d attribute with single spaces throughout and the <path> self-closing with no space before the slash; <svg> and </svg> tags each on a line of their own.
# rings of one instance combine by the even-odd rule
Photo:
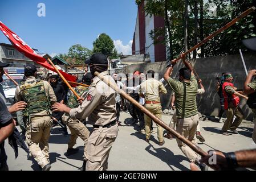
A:
<svg viewBox="0 0 256 182">
<path fill-rule="evenodd" d="M 198 90 L 196 77 L 192 75 L 189 82 L 181 82 L 174 80 L 173 78 L 169 78 L 167 82 L 175 93 L 177 114 L 176 131 L 192 143 L 197 144 L 196 130 L 199 118 L 196 104 L 196 95 Z M 189 146 L 181 142 L 178 138 L 176 138 L 176 140 L 178 147 L 180 147 L 181 151 L 190 160 L 190 162 L 195 162 L 199 159 L 199 155 Z"/>
</svg>

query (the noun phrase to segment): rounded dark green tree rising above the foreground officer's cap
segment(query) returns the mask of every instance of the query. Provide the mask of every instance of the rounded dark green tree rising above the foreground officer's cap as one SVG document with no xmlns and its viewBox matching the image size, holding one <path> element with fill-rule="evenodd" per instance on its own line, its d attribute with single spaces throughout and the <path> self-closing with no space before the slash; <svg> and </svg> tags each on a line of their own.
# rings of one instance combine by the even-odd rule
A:
<svg viewBox="0 0 256 182">
<path fill-rule="evenodd" d="M 113 40 L 107 34 L 100 34 L 99 37 L 93 43 L 94 53 L 103 53 L 108 57 L 112 57 L 114 53 L 114 43 Z M 117 53 L 117 51 L 115 52 Z"/>
</svg>

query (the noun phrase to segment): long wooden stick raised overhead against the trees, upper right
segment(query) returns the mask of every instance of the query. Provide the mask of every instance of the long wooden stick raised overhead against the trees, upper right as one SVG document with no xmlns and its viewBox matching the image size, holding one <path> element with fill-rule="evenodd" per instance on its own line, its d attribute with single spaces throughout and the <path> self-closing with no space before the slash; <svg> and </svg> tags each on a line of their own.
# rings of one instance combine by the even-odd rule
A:
<svg viewBox="0 0 256 182">
<path fill-rule="evenodd" d="M 212 39 L 214 36 L 220 34 L 220 32 L 222 32 L 222 31 L 226 30 L 227 28 L 233 26 L 233 24 L 235 24 L 236 22 L 238 22 L 240 19 L 244 18 L 245 16 L 249 15 L 253 11 L 255 11 L 255 9 L 256 8 L 253 6 L 250 9 L 246 10 L 245 12 L 243 12 L 241 15 L 237 16 L 237 18 L 231 20 L 231 22 L 227 23 L 224 27 L 221 27 L 219 30 L 217 30 L 216 32 L 214 32 L 213 34 L 209 35 L 207 38 L 202 40 L 200 43 L 198 43 L 196 46 L 194 46 L 191 49 L 189 49 L 188 51 L 186 51 L 184 53 L 185 56 L 188 55 L 190 52 L 194 51 L 196 48 L 202 46 L 202 44 L 208 42 L 208 40 Z M 181 59 L 181 56 L 177 57 L 176 59 L 173 59 L 173 61 L 178 61 L 180 59 Z"/>
</svg>

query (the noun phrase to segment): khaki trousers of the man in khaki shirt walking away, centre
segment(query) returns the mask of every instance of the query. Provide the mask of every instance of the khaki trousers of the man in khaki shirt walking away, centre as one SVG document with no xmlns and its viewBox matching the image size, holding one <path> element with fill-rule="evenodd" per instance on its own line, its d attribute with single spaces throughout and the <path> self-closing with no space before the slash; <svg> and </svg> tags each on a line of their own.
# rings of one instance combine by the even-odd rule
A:
<svg viewBox="0 0 256 182">
<path fill-rule="evenodd" d="M 161 104 L 145 104 L 146 109 L 151 111 L 152 114 L 154 114 L 157 118 L 162 119 L 162 106 Z M 144 114 L 144 121 L 145 121 L 145 133 L 146 133 L 146 139 L 148 139 L 151 135 L 151 118 L 148 117 L 148 115 Z M 164 141 L 164 130 L 160 125 L 156 123 L 157 126 L 157 138 L 159 139 L 159 142 Z"/>
</svg>

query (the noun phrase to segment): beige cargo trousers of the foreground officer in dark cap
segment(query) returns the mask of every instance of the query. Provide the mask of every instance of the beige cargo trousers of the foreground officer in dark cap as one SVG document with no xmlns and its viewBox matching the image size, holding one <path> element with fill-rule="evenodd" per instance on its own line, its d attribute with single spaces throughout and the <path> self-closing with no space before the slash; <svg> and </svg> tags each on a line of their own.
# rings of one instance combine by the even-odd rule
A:
<svg viewBox="0 0 256 182">
<path fill-rule="evenodd" d="M 94 128 L 87 144 L 86 171 L 108 169 L 108 156 L 118 133 L 117 124 L 111 127 Z"/>
</svg>

